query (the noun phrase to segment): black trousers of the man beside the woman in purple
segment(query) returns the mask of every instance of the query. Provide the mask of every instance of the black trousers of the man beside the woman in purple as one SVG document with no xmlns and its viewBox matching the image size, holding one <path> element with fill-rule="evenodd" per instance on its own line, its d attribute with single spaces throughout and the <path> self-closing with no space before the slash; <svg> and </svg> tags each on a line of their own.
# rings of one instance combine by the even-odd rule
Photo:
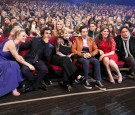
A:
<svg viewBox="0 0 135 115">
<path fill-rule="evenodd" d="M 38 70 L 38 75 L 37 79 L 35 79 L 32 71 L 29 69 L 28 66 L 23 65 L 22 66 L 22 74 L 26 79 L 28 79 L 32 83 L 32 87 L 37 89 L 40 87 L 41 82 L 43 81 L 43 78 L 46 75 L 46 64 L 43 60 L 39 60 L 36 63 L 32 63 L 33 59 L 26 59 L 26 61 L 30 64 L 32 64 L 37 70 Z"/>
</svg>

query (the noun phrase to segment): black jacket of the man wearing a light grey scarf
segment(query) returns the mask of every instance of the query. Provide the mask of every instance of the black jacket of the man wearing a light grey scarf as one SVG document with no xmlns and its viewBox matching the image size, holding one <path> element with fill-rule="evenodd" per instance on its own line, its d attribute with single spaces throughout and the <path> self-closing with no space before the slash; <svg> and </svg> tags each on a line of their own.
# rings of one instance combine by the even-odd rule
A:
<svg viewBox="0 0 135 115">
<path fill-rule="evenodd" d="M 116 53 L 119 57 L 120 60 L 125 60 L 125 51 L 124 51 L 124 46 L 123 46 L 123 41 L 121 38 L 121 35 L 116 36 L 115 38 L 116 42 Z M 129 50 L 133 57 L 135 58 L 135 37 L 131 36 L 129 40 Z"/>
</svg>

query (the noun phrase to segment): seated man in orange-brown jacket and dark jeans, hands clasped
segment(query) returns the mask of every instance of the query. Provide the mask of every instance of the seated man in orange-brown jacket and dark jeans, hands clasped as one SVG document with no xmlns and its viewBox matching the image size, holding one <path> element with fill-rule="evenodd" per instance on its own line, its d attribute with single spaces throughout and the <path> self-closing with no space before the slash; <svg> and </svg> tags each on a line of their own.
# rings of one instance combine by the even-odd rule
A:
<svg viewBox="0 0 135 115">
<path fill-rule="evenodd" d="M 84 86 L 90 87 L 88 82 L 89 64 L 93 64 L 96 85 L 99 88 L 103 88 L 103 84 L 101 83 L 100 63 L 94 57 L 98 53 L 98 48 L 93 38 L 88 37 L 87 26 L 81 26 L 79 31 L 81 36 L 75 39 L 72 45 L 72 52 L 78 55 L 78 62 L 83 65 L 84 77 L 86 79 Z"/>
</svg>

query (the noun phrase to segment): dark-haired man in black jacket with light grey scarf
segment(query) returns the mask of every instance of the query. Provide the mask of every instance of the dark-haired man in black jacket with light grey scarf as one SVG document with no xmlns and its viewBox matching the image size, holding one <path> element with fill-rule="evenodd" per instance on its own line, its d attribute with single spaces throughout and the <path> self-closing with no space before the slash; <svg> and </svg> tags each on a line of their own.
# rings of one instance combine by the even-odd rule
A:
<svg viewBox="0 0 135 115">
<path fill-rule="evenodd" d="M 121 27 L 120 34 L 115 37 L 116 53 L 120 60 L 129 63 L 135 74 L 135 37 L 131 36 L 127 26 Z"/>
</svg>

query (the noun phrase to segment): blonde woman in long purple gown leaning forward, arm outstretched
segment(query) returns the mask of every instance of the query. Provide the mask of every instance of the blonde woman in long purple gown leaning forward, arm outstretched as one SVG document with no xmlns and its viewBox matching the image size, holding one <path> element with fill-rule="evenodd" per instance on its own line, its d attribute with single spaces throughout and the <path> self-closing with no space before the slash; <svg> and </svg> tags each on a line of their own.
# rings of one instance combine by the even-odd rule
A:
<svg viewBox="0 0 135 115">
<path fill-rule="evenodd" d="M 18 54 L 19 44 L 25 42 L 26 33 L 18 28 L 14 33 L 14 39 L 7 39 L 0 44 L 0 97 L 12 91 L 14 96 L 19 96 L 17 87 L 23 81 L 19 63 L 28 66 L 31 70 L 35 68 L 27 63 Z M 14 59 L 17 61 L 14 61 Z"/>
</svg>

